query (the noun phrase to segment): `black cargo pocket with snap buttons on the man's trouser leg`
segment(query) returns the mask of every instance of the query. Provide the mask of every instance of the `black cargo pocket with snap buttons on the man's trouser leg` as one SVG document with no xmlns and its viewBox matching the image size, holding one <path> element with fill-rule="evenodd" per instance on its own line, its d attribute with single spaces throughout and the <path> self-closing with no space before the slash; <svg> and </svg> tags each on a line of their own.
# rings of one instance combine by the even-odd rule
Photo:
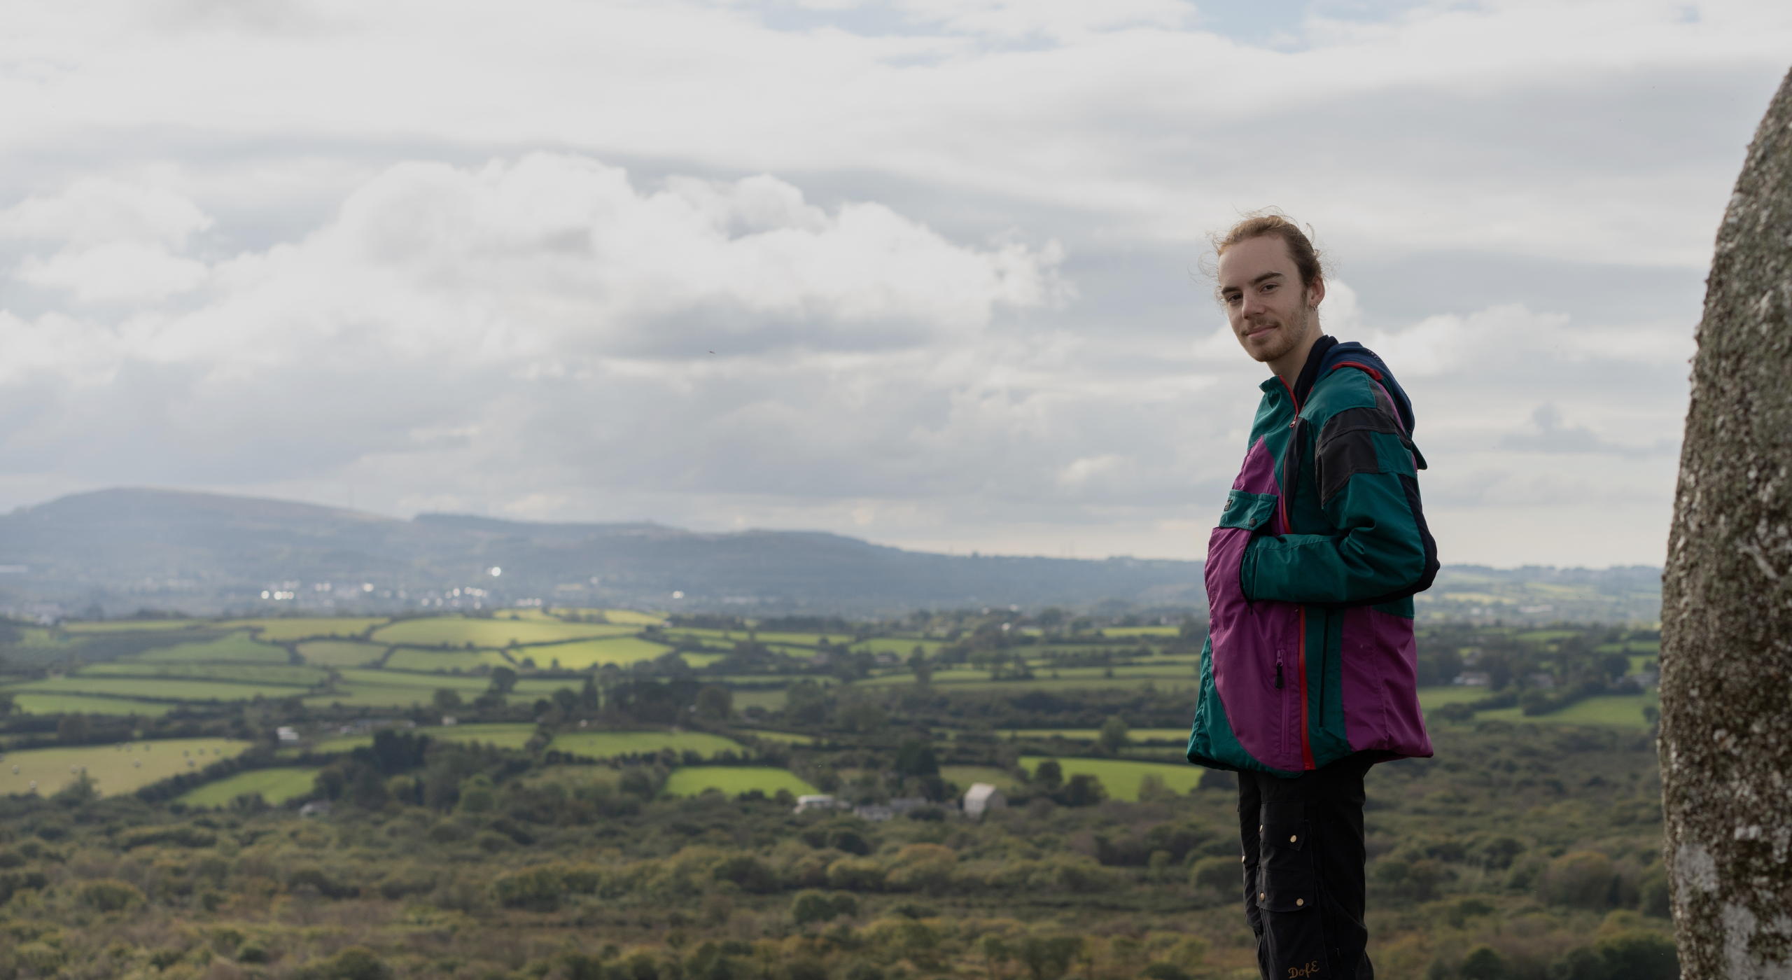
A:
<svg viewBox="0 0 1792 980">
<path fill-rule="evenodd" d="M 1256 914 L 1263 924 L 1258 960 L 1272 980 L 1331 976 L 1326 935 L 1319 919 L 1315 847 L 1305 819 L 1271 819 L 1263 808 L 1258 837 Z"/>
</svg>

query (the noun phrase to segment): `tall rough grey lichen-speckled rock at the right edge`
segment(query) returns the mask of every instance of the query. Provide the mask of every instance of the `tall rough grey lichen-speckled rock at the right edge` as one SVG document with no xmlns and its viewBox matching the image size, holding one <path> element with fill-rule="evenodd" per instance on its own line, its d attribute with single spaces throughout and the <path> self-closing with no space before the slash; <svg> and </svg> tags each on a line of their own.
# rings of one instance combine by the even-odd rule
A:
<svg viewBox="0 0 1792 980">
<path fill-rule="evenodd" d="M 1688 980 L 1792 973 L 1792 75 L 1706 279 L 1661 589 L 1665 864 Z"/>
</svg>

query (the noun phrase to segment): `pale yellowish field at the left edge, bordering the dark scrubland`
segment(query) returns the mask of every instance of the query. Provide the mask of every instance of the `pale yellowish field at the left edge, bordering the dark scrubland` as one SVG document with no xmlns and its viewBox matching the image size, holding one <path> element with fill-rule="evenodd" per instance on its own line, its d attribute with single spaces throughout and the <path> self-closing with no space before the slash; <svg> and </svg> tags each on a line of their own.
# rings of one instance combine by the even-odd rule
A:
<svg viewBox="0 0 1792 980">
<path fill-rule="evenodd" d="M 38 783 L 38 792 L 50 795 L 75 781 L 77 772 L 70 769 L 84 769 L 95 790 L 102 795 L 118 795 L 181 772 L 194 772 L 208 761 L 235 756 L 247 747 L 247 742 L 224 738 L 165 738 L 134 742 L 129 749 L 77 745 L 7 752 L 0 758 L 0 794 L 29 794 L 30 783 Z M 14 769 L 18 772 L 13 772 Z"/>
</svg>

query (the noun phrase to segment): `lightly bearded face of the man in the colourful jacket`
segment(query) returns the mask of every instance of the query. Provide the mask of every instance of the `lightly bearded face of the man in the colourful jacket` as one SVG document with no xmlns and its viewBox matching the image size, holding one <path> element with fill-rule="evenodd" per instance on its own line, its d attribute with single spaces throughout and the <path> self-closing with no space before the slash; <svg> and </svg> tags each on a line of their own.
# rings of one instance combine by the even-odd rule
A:
<svg viewBox="0 0 1792 980">
<path fill-rule="evenodd" d="M 1226 319 L 1253 360 L 1274 362 L 1315 330 L 1312 308 L 1324 297 L 1324 281 L 1301 288 L 1301 272 L 1279 236 L 1245 238 L 1226 249 L 1219 272 Z"/>
</svg>

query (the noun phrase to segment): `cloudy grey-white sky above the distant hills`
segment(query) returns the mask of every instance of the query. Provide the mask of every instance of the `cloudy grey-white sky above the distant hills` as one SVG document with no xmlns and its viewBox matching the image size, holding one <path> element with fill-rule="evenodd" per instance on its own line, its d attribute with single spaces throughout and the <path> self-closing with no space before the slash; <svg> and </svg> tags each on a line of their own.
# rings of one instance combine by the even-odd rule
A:
<svg viewBox="0 0 1792 980">
<path fill-rule="evenodd" d="M 1199 559 L 1278 206 L 1446 564 L 1659 564 L 1792 5 L 22 2 L 0 509 L 116 486 Z"/>
</svg>

